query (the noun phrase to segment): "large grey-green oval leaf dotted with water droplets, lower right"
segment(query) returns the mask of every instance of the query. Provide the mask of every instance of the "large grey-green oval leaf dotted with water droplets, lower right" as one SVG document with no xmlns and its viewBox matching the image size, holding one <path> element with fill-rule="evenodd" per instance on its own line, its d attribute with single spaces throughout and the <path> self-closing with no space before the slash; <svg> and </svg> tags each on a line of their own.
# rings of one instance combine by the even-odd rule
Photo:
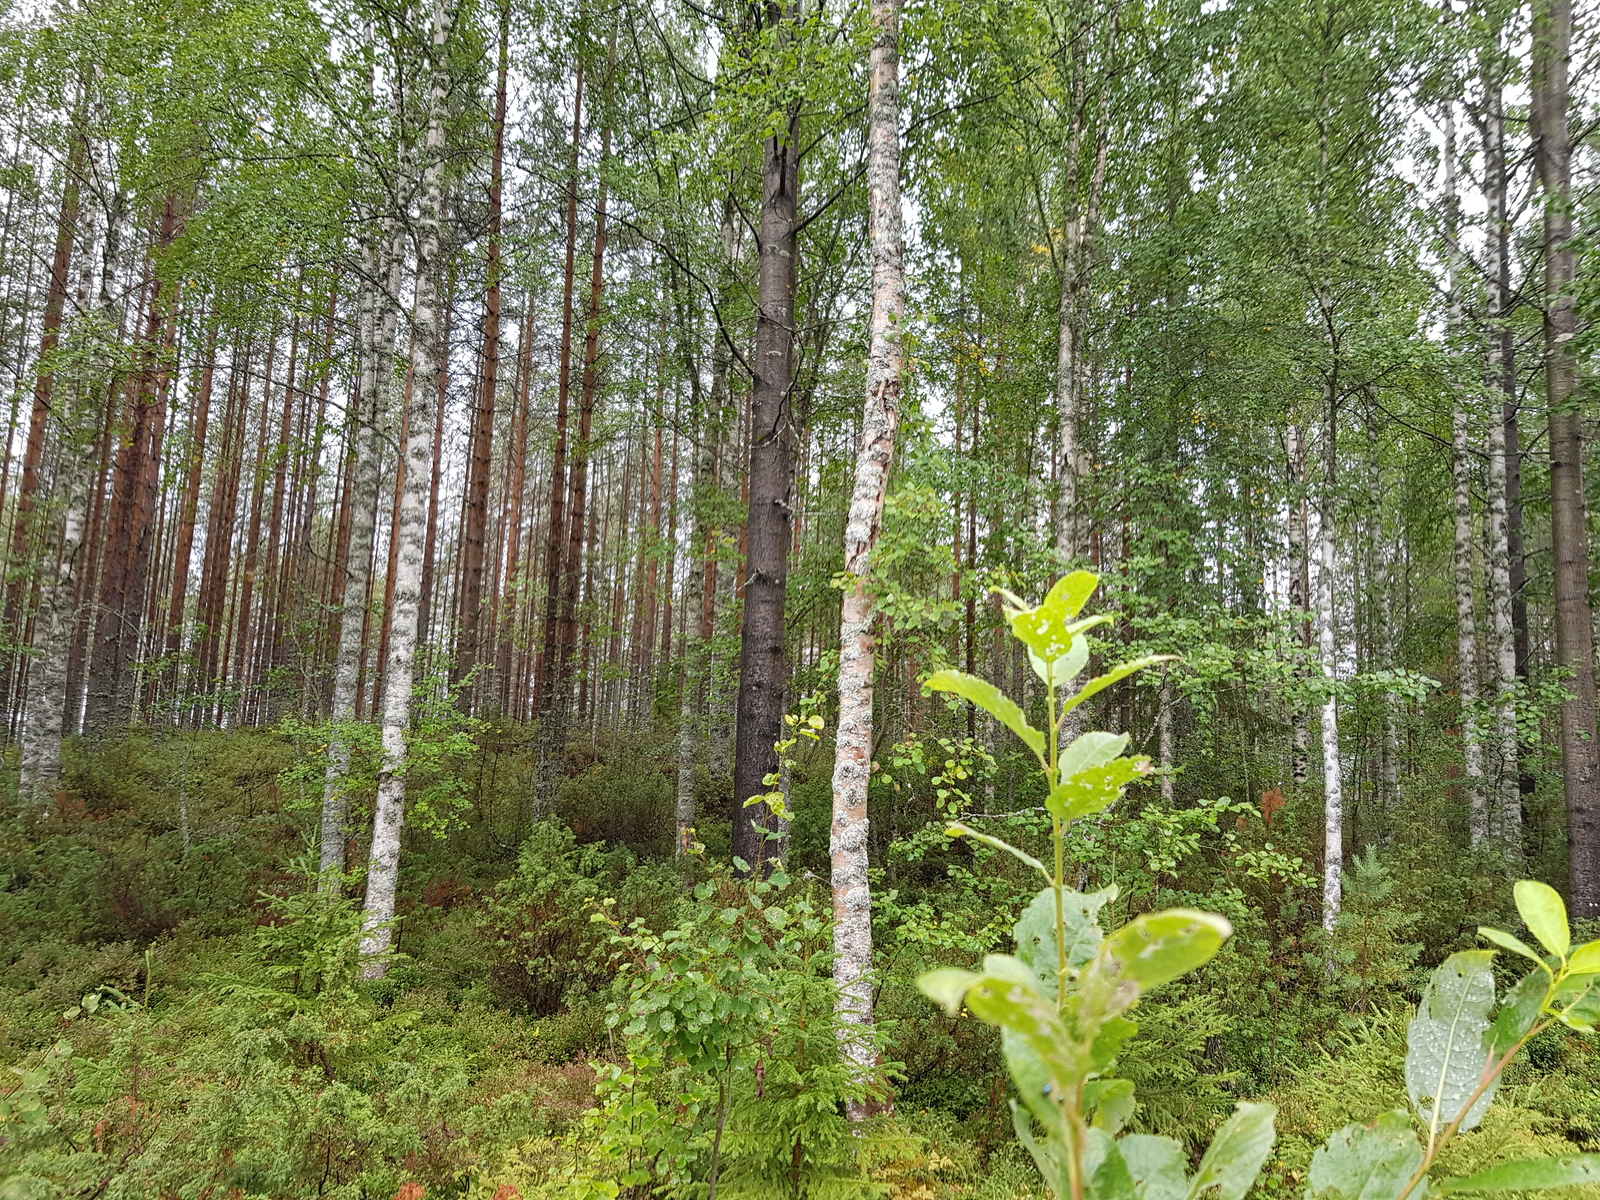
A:
<svg viewBox="0 0 1600 1200">
<path fill-rule="evenodd" d="M 1483 1075 L 1494 1003 L 1493 958 L 1494 950 L 1450 955 L 1429 979 L 1406 1029 L 1405 1090 L 1430 1128 L 1453 1122 Z M 1462 1133 L 1477 1126 L 1493 1098 L 1490 1085 L 1462 1118 Z"/>
</svg>

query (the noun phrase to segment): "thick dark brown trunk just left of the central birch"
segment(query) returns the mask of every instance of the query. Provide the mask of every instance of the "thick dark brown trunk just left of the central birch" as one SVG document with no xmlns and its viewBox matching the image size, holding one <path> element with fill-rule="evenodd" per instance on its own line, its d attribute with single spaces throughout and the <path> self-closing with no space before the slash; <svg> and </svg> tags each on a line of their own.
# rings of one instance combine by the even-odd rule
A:
<svg viewBox="0 0 1600 1200">
<path fill-rule="evenodd" d="M 792 14 L 773 13 L 773 21 Z M 744 629 L 733 757 L 733 856 L 757 869 L 765 856 L 765 810 L 744 802 L 768 790 L 773 749 L 784 728 L 789 683 L 784 603 L 789 589 L 789 522 L 794 493 L 794 310 L 800 114 L 765 142 L 762 163 L 760 274 L 755 318 L 755 389 L 750 398 L 749 504 L 746 509 Z"/>
</svg>

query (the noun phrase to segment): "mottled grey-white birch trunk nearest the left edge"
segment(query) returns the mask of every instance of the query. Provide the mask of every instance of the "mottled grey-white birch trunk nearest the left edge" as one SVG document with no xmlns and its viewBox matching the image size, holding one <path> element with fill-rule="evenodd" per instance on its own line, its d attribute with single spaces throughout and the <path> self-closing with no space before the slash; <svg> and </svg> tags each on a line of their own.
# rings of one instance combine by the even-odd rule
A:
<svg viewBox="0 0 1600 1200">
<path fill-rule="evenodd" d="M 61 784 L 61 726 L 67 710 L 67 654 L 77 626 L 77 562 L 83 542 L 88 490 L 83 486 L 78 448 L 58 450 L 53 491 L 62 507 L 61 554 L 53 578 L 38 589 L 34 614 L 34 664 L 21 730 L 19 792 L 34 805 L 48 805 Z"/>
</svg>

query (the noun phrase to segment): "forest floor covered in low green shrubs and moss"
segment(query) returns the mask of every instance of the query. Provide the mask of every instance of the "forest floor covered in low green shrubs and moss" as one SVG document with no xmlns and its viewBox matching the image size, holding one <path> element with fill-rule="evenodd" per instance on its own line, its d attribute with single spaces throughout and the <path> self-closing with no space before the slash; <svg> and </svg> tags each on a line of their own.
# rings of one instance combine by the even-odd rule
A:
<svg viewBox="0 0 1600 1200">
<path fill-rule="evenodd" d="M 408 832 L 400 955 L 373 982 L 354 968 L 357 906 L 328 904 L 306 866 L 314 805 L 294 738 L 77 749 L 51 811 L 0 834 L 0 1197 L 418 1200 L 408 1184 L 485 1200 L 509 1200 L 507 1189 L 614 1195 L 666 1178 L 664 1147 L 685 1155 L 682 1178 L 702 1179 L 709 1142 L 690 1126 L 704 1112 L 683 1096 L 706 1080 L 658 1074 L 653 1107 L 619 1102 L 651 1091 L 640 1066 L 650 1043 L 626 1014 L 614 1019 L 629 987 L 640 995 L 637 971 L 619 981 L 638 946 L 627 938 L 709 928 L 694 922 L 712 920 L 734 886 L 696 867 L 701 890 L 683 891 L 669 858 L 666 746 L 578 755 L 541 822 L 522 811 L 517 754 L 464 774 L 454 816 Z M 805 787 L 798 795 L 803 806 Z M 797 832 L 798 859 L 819 853 L 818 835 Z M 709 822 L 702 837 L 710 858 L 726 827 L 718 838 Z M 816 866 L 795 870 L 782 896 L 789 928 L 826 912 Z M 992 896 L 994 880 L 912 866 L 882 890 L 877 934 L 896 1115 L 867 1149 L 840 1150 L 830 1056 L 774 1024 L 728 1050 L 730 1064 L 757 1066 L 730 1072 L 720 1190 L 1042 1194 L 1011 1133 L 994 1037 L 946 1018 L 910 982 L 928 955 L 960 960 L 1005 934 L 981 917 L 987 901 L 971 902 Z M 1416 902 L 1405 878 L 1371 886 L 1403 909 Z M 594 920 L 602 910 L 614 923 Z M 1122 1069 L 1139 1088 L 1136 1125 L 1190 1147 L 1237 1099 L 1274 1101 L 1280 1141 L 1259 1194 L 1299 1192 L 1330 1130 L 1403 1106 L 1418 971 L 1454 946 L 1419 946 L 1387 974 L 1374 958 L 1363 976 L 1352 958 L 1355 984 L 1334 984 L 1274 944 L 1270 923 L 1253 926 L 1246 912 L 1235 925 L 1232 960 L 1141 1006 Z M 1376 957 L 1392 958 L 1400 939 L 1381 936 Z M 806 934 L 773 946 L 800 965 L 773 958 L 763 978 L 797 979 L 803 994 L 816 974 Z M 1275 997 L 1264 1008 L 1262 992 Z M 798 1003 L 784 995 L 774 1003 Z M 662 1054 L 675 1045 L 658 1040 Z M 1534 1042 L 1445 1166 L 1528 1150 L 1600 1150 L 1592 1040 Z M 702 1195 L 704 1184 L 678 1190 Z"/>
</svg>

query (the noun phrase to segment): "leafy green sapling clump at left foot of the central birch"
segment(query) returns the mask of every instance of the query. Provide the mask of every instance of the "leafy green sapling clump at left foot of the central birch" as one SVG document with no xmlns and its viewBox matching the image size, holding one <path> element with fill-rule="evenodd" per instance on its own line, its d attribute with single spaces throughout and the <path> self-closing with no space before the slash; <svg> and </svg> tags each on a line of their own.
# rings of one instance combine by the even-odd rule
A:
<svg viewBox="0 0 1600 1200">
<path fill-rule="evenodd" d="M 595 912 L 619 955 L 579 1194 L 830 1197 L 862 1190 L 846 1101 L 874 1085 L 840 1061 L 827 909 L 781 872 L 704 882 L 685 920 L 653 933 Z"/>
</svg>

